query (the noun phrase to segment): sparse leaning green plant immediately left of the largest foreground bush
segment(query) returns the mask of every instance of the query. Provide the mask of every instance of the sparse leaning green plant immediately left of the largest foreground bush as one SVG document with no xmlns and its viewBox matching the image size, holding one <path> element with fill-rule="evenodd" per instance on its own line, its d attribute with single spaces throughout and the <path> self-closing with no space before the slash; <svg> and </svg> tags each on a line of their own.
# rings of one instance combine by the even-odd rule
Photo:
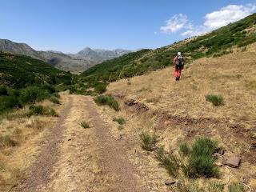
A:
<svg viewBox="0 0 256 192">
<path fill-rule="evenodd" d="M 164 167 L 170 176 L 177 178 L 178 170 L 181 166 L 181 161 L 173 154 L 173 151 L 170 150 L 168 153 L 164 150 L 164 146 L 161 146 L 158 149 L 156 158 L 161 162 L 161 166 Z"/>
</svg>

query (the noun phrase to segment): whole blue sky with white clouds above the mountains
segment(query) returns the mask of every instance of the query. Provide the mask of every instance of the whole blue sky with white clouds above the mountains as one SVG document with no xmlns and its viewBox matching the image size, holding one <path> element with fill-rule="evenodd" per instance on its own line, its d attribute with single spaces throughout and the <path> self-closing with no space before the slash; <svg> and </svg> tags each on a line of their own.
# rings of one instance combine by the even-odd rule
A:
<svg viewBox="0 0 256 192">
<path fill-rule="evenodd" d="M 0 0 L 0 38 L 77 53 L 158 48 L 238 21 L 255 0 Z"/>
</svg>

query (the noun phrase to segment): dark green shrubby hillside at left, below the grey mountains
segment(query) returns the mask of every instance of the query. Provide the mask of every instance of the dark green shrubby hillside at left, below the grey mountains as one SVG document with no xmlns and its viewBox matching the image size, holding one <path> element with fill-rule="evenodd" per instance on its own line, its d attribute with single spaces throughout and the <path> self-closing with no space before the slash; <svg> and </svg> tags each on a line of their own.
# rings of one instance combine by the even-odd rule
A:
<svg viewBox="0 0 256 192">
<path fill-rule="evenodd" d="M 22 88 L 44 82 L 56 83 L 69 79 L 70 74 L 46 62 L 18 54 L 0 52 L 0 85 Z"/>
</svg>

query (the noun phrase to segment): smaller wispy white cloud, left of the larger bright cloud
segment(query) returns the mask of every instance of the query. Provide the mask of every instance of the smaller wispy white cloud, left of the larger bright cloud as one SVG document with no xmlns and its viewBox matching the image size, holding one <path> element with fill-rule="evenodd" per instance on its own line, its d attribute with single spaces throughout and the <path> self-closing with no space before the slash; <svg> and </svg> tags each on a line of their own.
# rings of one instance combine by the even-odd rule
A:
<svg viewBox="0 0 256 192">
<path fill-rule="evenodd" d="M 161 26 L 160 30 L 164 34 L 172 34 L 181 30 L 188 23 L 188 19 L 184 14 L 175 14 L 172 18 L 166 21 L 166 26 Z"/>
</svg>

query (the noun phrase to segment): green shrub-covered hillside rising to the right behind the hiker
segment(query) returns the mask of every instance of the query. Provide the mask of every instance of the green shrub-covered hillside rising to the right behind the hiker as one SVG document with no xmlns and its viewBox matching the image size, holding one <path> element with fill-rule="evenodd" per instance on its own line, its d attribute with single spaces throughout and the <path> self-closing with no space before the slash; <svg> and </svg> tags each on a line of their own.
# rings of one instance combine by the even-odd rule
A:
<svg viewBox="0 0 256 192">
<path fill-rule="evenodd" d="M 157 50 L 141 50 L 102 62 L 86 70 L 81 76 L 94 81 L 113 82 L 170 66 L 178 51 L 182 52 L 186 65 L 189 65 L 195 59 L 229 54 L 234 48 L 246 47 L 253 42 L 256 42 L 256 14 L 209 34 L 174 42 Z"/>
</svg>

